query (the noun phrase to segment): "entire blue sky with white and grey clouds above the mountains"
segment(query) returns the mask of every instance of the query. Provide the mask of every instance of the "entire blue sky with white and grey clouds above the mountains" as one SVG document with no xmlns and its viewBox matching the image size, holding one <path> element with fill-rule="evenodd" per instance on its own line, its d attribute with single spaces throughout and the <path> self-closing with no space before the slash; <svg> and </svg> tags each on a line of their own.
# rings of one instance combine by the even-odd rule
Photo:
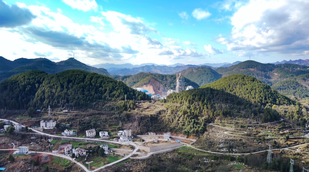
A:
<svg viewBox="0 0 309 172">
<path fill-rule="evenodd" d="M 0 0 L 0 56 L 85 64 L 309 59 L 307 0 Z"/>
</svg>

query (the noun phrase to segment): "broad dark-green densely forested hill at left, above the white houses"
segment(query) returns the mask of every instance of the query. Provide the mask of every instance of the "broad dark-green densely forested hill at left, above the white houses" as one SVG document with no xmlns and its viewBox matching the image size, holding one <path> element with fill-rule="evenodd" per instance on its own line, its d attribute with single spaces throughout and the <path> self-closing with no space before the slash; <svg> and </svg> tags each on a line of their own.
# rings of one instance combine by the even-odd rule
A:
<svg viewBox="0 0 309 172">
<path fill-rule="evenodd" d="M 0 91 L 1 108 L 10 109 L 89 107 L 95 102 L 124 100 L 125 95 L 130 100 L 150 99 L 123 82 L 77 69 L 49 75 L 42 71 L 20 73 L 1 82 Z"/>
</svg>

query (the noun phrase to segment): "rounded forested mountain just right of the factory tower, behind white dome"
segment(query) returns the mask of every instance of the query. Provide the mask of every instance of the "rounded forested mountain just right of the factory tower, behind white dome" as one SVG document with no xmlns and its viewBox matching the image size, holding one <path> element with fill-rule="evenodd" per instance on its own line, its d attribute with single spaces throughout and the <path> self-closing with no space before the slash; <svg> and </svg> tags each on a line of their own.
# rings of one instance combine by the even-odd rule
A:
<svg viewBox="0 0 309 172">
<path fill-rule="evenodd" d="M 184 76 L 185 78 L 188 78 L 193 82 L 196 82 L 200 86 L 214 82 L 222 77 L 222 74 L 217 73 L 216 71 L 214 71 L 212 68 L 209 67 L 197 67 L 197 68 L 191 67 L 183 71 L 180 71 L 179 73 L 181 73 L 181 75 Z"/>
</svg>

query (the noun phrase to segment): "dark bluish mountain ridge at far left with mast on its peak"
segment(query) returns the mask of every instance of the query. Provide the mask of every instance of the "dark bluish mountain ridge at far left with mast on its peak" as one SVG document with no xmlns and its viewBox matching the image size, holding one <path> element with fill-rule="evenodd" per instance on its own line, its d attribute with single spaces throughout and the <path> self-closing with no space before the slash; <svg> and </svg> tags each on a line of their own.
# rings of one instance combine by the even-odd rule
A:
<svg viewBox="0 0 309 172">
<path fill-rule="evenodd" d="M 0 81 L 11 77 L 18 73 L 23 73 L 31 70 L 41 70 L 46 73 L 57 73 L 65 71 L 67 69 L 80 69 L 87 72 L 95 72 L 102 75 L 110 76 L 106 69 L 103 68 L 94 68 L 87 66 L 75 60 L 74 58 L 69 58 L 68 60 L 53 62 L 45 58 L 37 59 L 25 59 L 20 58 L 14 61 L 6 60 L 3 57 L 0 57 Z"/>
</svg>

